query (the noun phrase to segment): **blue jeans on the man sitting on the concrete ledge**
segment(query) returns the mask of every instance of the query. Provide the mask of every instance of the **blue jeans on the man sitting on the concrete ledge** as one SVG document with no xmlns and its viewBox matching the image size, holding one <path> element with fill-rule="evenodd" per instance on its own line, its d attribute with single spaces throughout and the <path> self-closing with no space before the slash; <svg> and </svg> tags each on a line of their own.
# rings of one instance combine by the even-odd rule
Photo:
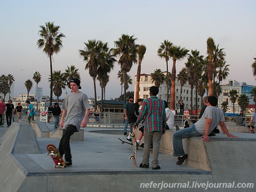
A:
<svg viewBox="0 0 256 192">
<path fill-rule="evenodd" d="M 202 136 L 202 134 L 196 131 L 194 124 L 192 125 L 192 127 L 180 129 L 172 135 L 173 156 L 179 157 L 185 154 L 183 150 L 182 139 L 192 136 Z"/>
</svg>

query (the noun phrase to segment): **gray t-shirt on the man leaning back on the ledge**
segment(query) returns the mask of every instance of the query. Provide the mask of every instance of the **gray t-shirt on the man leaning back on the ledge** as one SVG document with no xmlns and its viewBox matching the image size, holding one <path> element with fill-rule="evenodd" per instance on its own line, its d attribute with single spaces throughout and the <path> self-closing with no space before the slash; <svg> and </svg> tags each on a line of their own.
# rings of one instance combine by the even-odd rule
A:
<svg viewBox="0 0 256 192">
<path fill-rule="evenodd" d="M 224 121 L 224 113 L 220 108 L 208 106 L 201 119 L 198 120 L 198 122 L 195 123 L 196 130 L 204 135 L 205 131 L 205 123 L 206 119 L 212 119 L 212 124 L 210 125 L 209 134 L 213 131 L 213 129 L 218 125 L 219 122 Z"/>
</svg>

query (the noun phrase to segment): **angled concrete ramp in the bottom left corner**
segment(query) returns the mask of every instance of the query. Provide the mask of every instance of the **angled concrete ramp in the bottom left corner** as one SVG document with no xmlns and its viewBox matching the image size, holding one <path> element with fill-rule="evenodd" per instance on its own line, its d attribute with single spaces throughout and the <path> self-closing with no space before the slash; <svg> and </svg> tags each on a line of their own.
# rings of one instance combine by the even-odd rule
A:
<svg viewBox="0 0 256 192">
<path fill-rule="evenodd" d="M 0 140 L 0 190 L 15 192 L 26 179 L 15 154 L 41 153 L 31 125 L 12 123 Z"/>
</svg>

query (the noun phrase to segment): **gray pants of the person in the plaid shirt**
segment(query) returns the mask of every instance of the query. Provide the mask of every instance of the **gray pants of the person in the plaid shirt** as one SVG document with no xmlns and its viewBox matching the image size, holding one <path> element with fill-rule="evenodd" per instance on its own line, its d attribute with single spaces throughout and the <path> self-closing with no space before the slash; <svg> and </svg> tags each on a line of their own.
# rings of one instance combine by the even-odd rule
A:
<svg viewBox="0 0 256 192">
<path fill-rule="evenodd" d="M 150 145 L 151 141 L 153 141 L 153 160 L 151 162 L 151 166 L 157 167 L 161 137 L 162 131 L 148 132 L 144 130 L 144 149 L 142 164 L 149 164 Z"/>
</svg>

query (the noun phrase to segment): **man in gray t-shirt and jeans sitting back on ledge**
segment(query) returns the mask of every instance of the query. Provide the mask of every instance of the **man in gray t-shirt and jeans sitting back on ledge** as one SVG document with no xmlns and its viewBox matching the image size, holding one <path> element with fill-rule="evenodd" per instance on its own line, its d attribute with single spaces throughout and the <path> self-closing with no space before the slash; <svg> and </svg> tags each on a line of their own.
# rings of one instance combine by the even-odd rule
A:
<svg viewBox="0 0 256 192">
<path fill-rule="evenodd" d="M 237 137 L 230 134 L 224 123 L 224 113 L 220 108 L 216 108 L 218 100 L 215 96 L 208 96 L 207 98 L 207 108 L 204 111 L 201 119 L 192 127 L 186 129 L 180 129 L 175 131 L 172 135 L 173 142 L 173 156 L 178 157 L 177 165 L 181 165 L 188 155 L 185 154 L 183 150 L 182 139 L 189 138 L 192 136 L 201 136 L 204 142 L 209 142 L 209 134 L 218 125 L 221 126 L 222 131 L 227 135 L 227 137 Z"/>
</svg>

